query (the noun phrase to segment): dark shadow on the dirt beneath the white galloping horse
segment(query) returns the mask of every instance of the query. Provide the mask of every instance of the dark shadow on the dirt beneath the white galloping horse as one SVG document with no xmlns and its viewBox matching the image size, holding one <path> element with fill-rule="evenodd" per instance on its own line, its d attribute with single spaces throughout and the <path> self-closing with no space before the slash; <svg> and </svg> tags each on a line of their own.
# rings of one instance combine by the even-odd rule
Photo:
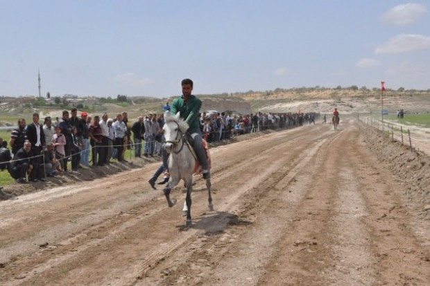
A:
<svg viewBox="0 0 430 286">
<path fill-rule="evenodd" d="M 188 229 L 203 229 L 205 235 L 216 235 L 223 233 L 228 226 L 248 226 L 252 222 L 242 220 L 239 216 L 225 211 L 215 211 L 203 213 L 200 217 L 193 219 L 191 226 L 184 224 L 176 226 L 180 231 L 187 231 Z"/>
</svg>

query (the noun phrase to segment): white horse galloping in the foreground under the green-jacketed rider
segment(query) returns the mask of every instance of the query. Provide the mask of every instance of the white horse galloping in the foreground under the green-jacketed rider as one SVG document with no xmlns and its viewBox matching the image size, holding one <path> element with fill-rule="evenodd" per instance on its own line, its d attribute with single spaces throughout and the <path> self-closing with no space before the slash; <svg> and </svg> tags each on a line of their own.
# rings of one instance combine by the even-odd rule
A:
<svg viewBox="0 0 430 286">
<path fill-rule="evenodd" d="M 170 179 L 164 188 L 164 195 L 166 195 L 167 204 L 172 207 L 176 204 L 176 199 L 170 199 L 171 189 L 178 185 L 180 179 L 184 180 L 185 187 L 187 188 L 187 197 L 185 198 L 187 212 L 186 226 L 191 226 L 191 191 L 193 188 L 193 173 L 196 172 L 198 160 L 196 154 L 193 153 L 191 145 L 189 145 L 185 132 L 188 129 L 188 124 L 178 114 L 164 114 L 164 148 L 169 153 L 169 173 Z M 213 211 L 211 196 L 211 181 L 206 179 L 206 187 L 209 194 L 209 210 Z"/>
</svg>

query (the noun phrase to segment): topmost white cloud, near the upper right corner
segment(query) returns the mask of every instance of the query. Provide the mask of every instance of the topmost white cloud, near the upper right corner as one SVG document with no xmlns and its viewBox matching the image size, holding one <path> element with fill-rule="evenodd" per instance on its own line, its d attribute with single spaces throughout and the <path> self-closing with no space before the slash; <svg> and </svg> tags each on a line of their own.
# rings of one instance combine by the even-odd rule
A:
<svg viewBox="0 0 430 286">
<path fill-rule="evenodd" d="M 382 21 L 395 25 L 408 25 L 427 13 L 423 4 L 406 3 L 397 5 L 382 15 Z"/>
</svg>

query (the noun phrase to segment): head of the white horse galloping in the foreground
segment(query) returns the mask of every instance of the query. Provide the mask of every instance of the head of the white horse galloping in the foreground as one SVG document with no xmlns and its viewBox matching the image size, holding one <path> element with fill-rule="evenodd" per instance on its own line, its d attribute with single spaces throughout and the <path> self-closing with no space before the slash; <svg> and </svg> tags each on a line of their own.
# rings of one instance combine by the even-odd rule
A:
<svg viewBox="0 0 430 286">
<path fill-rule="evenodd" d="M 170 111 L 164 113 L 164 149 L 166 152 L 171 153 L 175 147 L 182 140 L 182 134 L 187 132 L 189 125 L 188 123 L 180 118 L 179 112 L 175 115 L 171 114 Z M 183 142 L 182 142 L 183 143 Z"/>
</svg>

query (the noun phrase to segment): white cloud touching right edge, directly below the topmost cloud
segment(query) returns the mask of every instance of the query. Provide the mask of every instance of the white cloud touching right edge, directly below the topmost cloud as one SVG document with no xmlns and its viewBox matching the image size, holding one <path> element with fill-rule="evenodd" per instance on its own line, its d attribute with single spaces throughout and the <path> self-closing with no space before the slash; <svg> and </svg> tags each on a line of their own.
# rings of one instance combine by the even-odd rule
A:
<svg viewBox="0 0 430 286">
<path fill-rule="evenodd" d="M 377 46 L 375 53 L 403 53 L 408 51 L 430 48 L 430 37 L 423 35 L 402 34 L 390 39 L 388 42 Z"/>
</svg>

